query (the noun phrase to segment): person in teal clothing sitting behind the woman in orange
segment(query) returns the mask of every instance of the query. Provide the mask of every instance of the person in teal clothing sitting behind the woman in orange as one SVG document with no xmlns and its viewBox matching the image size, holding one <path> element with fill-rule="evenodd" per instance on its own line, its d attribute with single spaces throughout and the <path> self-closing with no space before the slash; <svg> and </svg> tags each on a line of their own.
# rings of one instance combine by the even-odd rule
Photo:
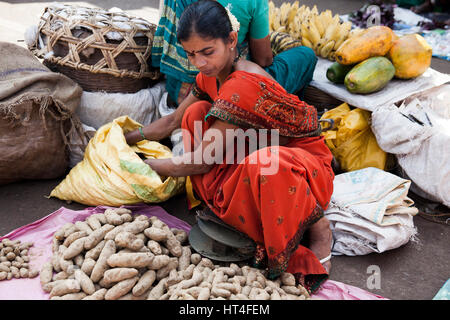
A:
<svg viewBox="0 0 450 320">
<path fill-rule="evenodd" d="M 171 104 L 179 105 L 192 89 L 198 74 L 177 41 L 178 19 L 197 0 L 164 0 L 156 29 L 151 63 L 166 78 Z M 269 36 L 268 0 L 217 0 L 239 21 L 238 43 L 241 55 L 263 67 L 289 93 L 303 97 L 311 82 L 317 57 L 308 47 L 299 46 L 273 56 Z"/>
</svg>

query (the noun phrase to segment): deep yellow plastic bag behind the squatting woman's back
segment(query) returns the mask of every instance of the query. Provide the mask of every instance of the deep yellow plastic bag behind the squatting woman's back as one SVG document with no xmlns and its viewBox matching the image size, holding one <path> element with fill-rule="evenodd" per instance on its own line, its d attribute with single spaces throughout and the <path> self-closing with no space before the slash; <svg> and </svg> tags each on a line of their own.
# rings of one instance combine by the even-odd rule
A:
<svg viewBox="0 0 450 320">
<path fill-rule="evenodd" d="M 347 103 L 325 112 L 321 119 L 333 119 L 335 129 L 322 132 L 341 169 L 354 171 L 367 167 L 384 170 L 387 153 L 377 143 L 369 125 L 370 112 L 350 110 Z"/>
</svg>

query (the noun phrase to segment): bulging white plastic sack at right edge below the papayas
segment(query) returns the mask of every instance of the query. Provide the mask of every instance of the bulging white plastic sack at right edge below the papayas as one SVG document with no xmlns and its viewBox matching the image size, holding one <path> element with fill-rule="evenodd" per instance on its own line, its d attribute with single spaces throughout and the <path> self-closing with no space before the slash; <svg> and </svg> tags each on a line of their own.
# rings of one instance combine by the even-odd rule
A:
<svg viewBox="0 0 450 320">
<path fill-rule="evenodd" d="M 372 114 L 379 145 L 397 158 L 417 195 L 450 207 L 450 85 L 410 97 Z"/>
</svg>

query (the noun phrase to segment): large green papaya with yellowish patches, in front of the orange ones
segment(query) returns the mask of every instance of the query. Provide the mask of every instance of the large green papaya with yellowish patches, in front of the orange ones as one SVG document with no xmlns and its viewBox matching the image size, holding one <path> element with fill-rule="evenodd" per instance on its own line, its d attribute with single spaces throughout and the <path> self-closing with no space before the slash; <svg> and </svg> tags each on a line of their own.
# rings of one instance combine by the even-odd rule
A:
<svg viewBox="0 0 450 320">
<path fill-rule="evenodd" d="M 395 68 L 385 57 L 372 57 L 358 63 L 344 79 L 351 93 L 367 94 L 383 89 L 394 77 Z"/>
</svg>

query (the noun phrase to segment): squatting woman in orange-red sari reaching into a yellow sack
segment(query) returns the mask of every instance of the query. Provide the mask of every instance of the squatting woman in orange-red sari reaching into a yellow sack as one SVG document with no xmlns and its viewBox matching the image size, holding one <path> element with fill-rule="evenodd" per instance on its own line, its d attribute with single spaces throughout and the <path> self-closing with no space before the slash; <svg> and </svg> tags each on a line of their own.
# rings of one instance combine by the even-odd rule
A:
<svg viewBox="0 0 450 320">
<path fill-rule="evenodd" d="M 314 292 L 330 267 L 331 230 L 323 211 L 333 191 L 332 155 L 316 109 L 239 59 L 231 21 L 211 0 L 193 3 L 180 17 L 178 38 L 200 70 L 183 110 L 176 111 L 185 153 L 146 163 L 163 176 L 190 176 L 205 204 L 257 243 L 255 266 L 267 268 L 272 279 L 290 272 Z M 128 133 L 127 142 L 157 137 L 157 125 Z M 264 144 L 267 130 L 272 134 Z M 300 243 L 306 231 L 309 248 Z"/>
</svg>

